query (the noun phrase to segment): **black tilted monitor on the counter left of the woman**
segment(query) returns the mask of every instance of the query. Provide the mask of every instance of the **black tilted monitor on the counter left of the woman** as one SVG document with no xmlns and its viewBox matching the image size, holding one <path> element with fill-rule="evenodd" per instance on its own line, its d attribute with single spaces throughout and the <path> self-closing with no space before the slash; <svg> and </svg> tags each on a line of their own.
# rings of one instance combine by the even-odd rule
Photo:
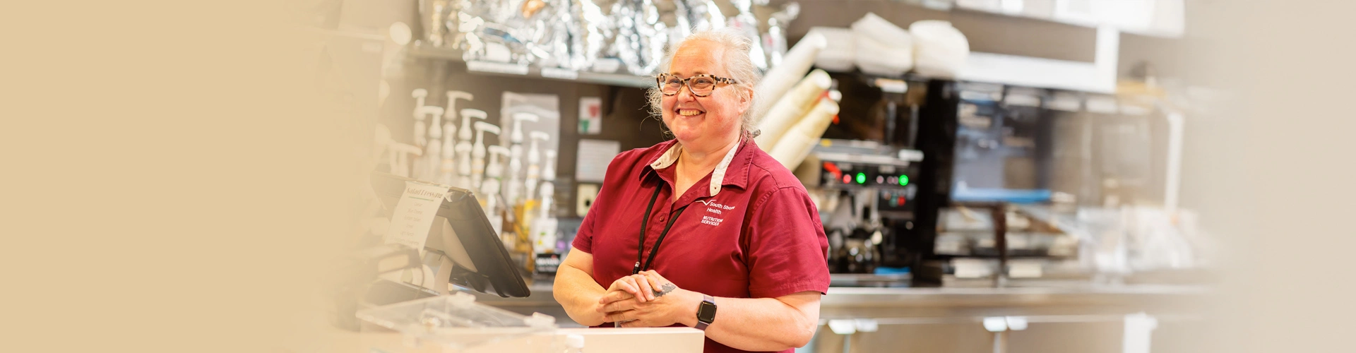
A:
<svg viewBox="0 0 1356 353">
<path fill-rule="evenodd" d="M 404 194 L 405 182 L 411 181 L 415 179 L 373 172 L 372 189 L 389 212 Z M 504 250 L 480 202 L 469 190 L 450 189 L 438 206 L 424 250 L 441 255 L 438 276 L 450 284 L 481 293 L 492 289 L 502 297 L 530 295 L 518 265 L 509 257 L 509 250 Z"/>
</svg>

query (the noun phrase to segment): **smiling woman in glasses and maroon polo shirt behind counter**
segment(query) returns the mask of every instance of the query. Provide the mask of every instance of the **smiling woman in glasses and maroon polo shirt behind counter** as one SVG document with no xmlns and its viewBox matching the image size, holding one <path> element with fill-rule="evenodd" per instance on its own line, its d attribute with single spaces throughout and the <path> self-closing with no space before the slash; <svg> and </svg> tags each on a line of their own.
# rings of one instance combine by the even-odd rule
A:
<svg viewBox="0 0 1356 353">
<path fill-rule="evenodd" d="M 556 274 L 575 322 L 692 326 L 705 352 L 791 352 L 814 337 L 829 242 L 804 186 L 750 138 L 750 45 L 704 31 L 667 60 L 650 99 L 674 140 L 612 160 Z"/>
</svg>

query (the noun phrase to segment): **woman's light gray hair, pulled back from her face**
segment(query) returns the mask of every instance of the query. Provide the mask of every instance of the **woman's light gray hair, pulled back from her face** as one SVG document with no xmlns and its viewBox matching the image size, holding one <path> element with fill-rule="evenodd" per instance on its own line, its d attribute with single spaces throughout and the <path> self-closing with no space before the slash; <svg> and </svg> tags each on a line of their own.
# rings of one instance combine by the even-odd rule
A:
<svg viewBox="0 0 1356 353">
<path fill-rule="evenodd" d="M 687 38 L 683 38 L 682 42 L 679 42 L 677 46 L 674 46 L 673 50 L 669 50 L 669 53 L 664 56 L 663 64 L 659 65 L 659 69 L 662 72 L 667 72 L 669 65 L 673 62 L 674 53 L 677 53 L 678 49 L 682 48 L 683 45 L 687 45 L 689 42 L 693 41 L 715 42 L 720 45 L 721 49 L 724 49 L 723 60 L 725 64 L 725 71 L 730 72 L 730 79 L 735 79 L 735 81 L 738 81 L 728 87 L 739 90 L 742 94 L 749 95 L 749 109 L 744 110 L 744 114 L 739 115 L 739 121 L 740 121 L 740 129 L 743 129 L 744 136 L 751 136 L 751 133 L 757 130 L 757 126 L 754 124 L 758 119 L 757 114 L 758 111 L 754 111 L 754 107 L 758 106 L 754 102 L 755 99 L 754 96 L 757 96 L 754 94 L 754 87 L 758 86 L 758 80 L 762 76 L 758 72 L 758 67 L 754 67 L 753 58 L 749 57 L 749 50 L 753 49 L 754 41 L 731 27 L 693 33 L 692 35 L 687 35 Z M 660 87 L 650 88 L 647 96 L 650 98 L 650 115 L 659 118 L 662 121 L 664 110 L 663 109 L 664 95 L 659 90 Z"/>
</svg>

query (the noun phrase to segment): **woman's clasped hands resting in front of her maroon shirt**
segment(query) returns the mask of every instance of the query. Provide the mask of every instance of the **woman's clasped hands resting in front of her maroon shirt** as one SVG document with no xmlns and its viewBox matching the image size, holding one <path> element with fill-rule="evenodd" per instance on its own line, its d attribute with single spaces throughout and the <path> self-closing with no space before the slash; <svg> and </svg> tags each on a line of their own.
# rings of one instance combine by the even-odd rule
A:
<svg viewBox="0 0 1356 353">
<path fill-rule="evenodd" d="M 681 289 L 658 272 L 647 270 L 613 281 L 598 299 L 595 310 L 605 314 L 605 322 L 616 322 L 621 327 L 687 324 L 689 316 L 696 320 L 701 297 L 701 293 Z"/>
</svg>

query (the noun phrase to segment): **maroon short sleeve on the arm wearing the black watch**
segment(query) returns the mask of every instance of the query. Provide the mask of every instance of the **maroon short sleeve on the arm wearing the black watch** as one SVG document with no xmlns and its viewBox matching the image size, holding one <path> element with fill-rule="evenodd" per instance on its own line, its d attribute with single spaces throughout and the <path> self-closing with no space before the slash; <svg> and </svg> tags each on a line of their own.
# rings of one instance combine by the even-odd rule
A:
<svg viewBox="0 0 1356 353">
<path fill-rule="evenodd" d="M 799 187 L 781 187 L 755 205 L 747 229 L 749 293 L 826 293 L 829 238 L 810 196 Z"/>
</svg>

